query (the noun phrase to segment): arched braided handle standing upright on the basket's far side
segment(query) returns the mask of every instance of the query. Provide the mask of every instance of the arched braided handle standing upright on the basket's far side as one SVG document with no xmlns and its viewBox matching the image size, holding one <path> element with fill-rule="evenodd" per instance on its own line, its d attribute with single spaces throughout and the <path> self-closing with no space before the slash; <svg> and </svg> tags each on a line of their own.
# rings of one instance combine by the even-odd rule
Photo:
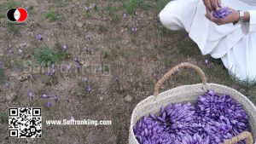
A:
<svg viewBox="0 0 256 144">
<path fill-rule="evenodd" d="M 177 66 L 174 66 L 162 78 L 160 78 L 160 80 L 154 86 L 154 96 L 158 95 L 159 89 L 161 85 L 166 81 L 166 79 L 171 78 L 172 75 L 178 72 L 180 68 L 190 68 L 195 70 L 195 72 L 197 72 L 200 75 L 202 84 L 207 85 L 207 77 L 205 75 L 205 72 L 203 72 L 199 66 L 195 66 L 194 64 L 191 64 L 189 62 L 183 62 Z"/>
</svg>

